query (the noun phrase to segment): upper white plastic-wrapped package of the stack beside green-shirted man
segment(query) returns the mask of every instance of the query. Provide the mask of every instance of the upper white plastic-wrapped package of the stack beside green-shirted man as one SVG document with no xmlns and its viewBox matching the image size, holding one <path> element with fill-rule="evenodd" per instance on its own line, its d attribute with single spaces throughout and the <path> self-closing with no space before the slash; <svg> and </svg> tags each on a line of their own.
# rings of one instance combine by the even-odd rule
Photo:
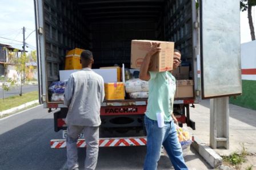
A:
<svg viewBox="0 0 256 170">
<path fill-rule="evenodd" d="M 149 82 L 141 79 L 130 79 L 125 82 L 127 93 L 149 91 Z"/>
</svg>

